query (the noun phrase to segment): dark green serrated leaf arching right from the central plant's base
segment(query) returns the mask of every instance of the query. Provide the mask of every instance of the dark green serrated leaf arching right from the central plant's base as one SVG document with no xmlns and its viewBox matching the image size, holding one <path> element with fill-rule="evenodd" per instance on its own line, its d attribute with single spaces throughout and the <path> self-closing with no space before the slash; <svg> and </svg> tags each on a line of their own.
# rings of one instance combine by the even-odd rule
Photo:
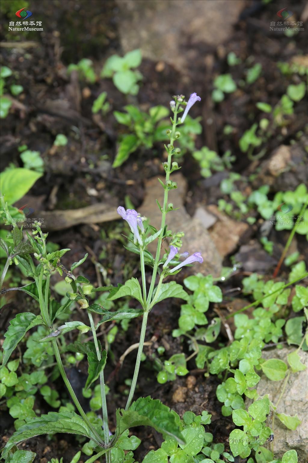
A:
<svg viewBox="0 0 308 463">
<path fill-rule="evenodd" d="M 179 443 L 185 441 L 180 432 L 180 424 L 176 422 L 175 414 L 160 400 L 153 400 L 150 396 L 140 397 L 132 403 L 128 410 L 116 411 L 117 435 L 133 426 L 151 426 L 157 432 L 168 434 Z"/>
</svg>

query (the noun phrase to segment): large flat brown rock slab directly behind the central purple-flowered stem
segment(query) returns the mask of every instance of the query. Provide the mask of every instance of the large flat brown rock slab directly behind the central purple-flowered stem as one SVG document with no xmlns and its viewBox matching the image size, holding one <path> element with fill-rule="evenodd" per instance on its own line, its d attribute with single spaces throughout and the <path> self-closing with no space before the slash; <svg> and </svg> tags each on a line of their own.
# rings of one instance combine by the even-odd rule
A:
<svg viewBox="0 0 308 463">
<path fill-rule="evenodd" d="M 171 176 L 172 181 L 176 181 L 178 188 L 171 190 L 168 195 L 168 203 L 173 203 L 173 207 L 179 207 L 176 211 L 171 211 L 167 214 L 166 223 L 173 232 L 184 232 L 185 236 L 182 238 L 183 251 L 188 251 L 190 254 L 193 252 L 201 252 L 203 263 L 198 264 L 197 270 L 194 267 L 185 267 L 182 274 L 188 276 L 195 271 L 203 275 L 211 274 L 213 276 L 220 276 L 222 269 L 221 257 L 216 249 L 215 244 L 211 240 L 209 232 L 207 232 L 202 222 L 197 218 L 191 218 L 187 213 L 183 202 L 186 198 L 187 183 L 183 175 L 177 173 Z M 146 182 L 145 186 L 145 200 L 138 212 L 150 219 L 151 225 L 157 229 L 161 224 L 161 212 L 156 204 L 156 199 L 159 203 L 163 204 L 163 188 L 157 181 L 157 177 L 153 177 Z M 157 242 L 152 242 L 148 246 L 150 252 L 155 254 Z M 168 241 L 166 240 L 168 244 Z M 164 248 L 162 248 L 162 254 Z M 183 276 L 183 277 L 185 277 Z"/>
</svg>

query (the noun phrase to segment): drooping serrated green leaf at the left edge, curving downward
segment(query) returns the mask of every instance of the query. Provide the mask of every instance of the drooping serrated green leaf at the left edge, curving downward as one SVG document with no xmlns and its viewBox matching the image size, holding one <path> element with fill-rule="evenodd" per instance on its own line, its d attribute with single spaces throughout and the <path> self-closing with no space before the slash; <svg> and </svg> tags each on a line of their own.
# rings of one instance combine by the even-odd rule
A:
<svg viewBox="0 0 308 463">
<path fill-rule="evenodd" d="M 3 343 L 3 360 L 2 366 L 6 364 L 10 358 L 12 351 L 15 349 L 19 341 L 22 340 L 25 333 L 36 325 L 42 325 L 43 319 L 41 315 L 34 315 L 34 313 L 25 312 L 18 313 L 14 319 L 10 321 L 10 325 L 4 335 L 5 340 Z"/>
</svg>

